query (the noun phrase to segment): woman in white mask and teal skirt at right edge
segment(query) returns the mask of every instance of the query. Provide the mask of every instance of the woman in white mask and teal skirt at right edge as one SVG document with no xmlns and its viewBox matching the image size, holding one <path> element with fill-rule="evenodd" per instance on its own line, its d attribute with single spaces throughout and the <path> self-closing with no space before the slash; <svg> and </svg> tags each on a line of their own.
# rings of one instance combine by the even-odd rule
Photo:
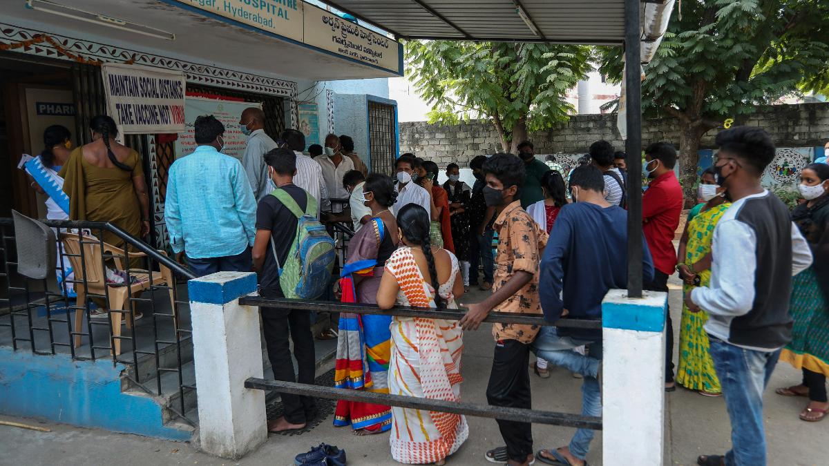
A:
<svg viewBox="0 0 829 466">
<path fill-rule="evenodd" d="M 829 165 L 811 163 L 804 167 L 797 188 L 806 202 L 795 207 L 792 221 L 811 246 L 813 261 L 792 280 L 792 342 L 783 348 L 780 360 L 801 369 L 803 381 L 780 388 L 777 393 L 808 396 L 809 403 L 800 419 L 815 422 L 826 417 L 829 410 Z"/>
</svg>

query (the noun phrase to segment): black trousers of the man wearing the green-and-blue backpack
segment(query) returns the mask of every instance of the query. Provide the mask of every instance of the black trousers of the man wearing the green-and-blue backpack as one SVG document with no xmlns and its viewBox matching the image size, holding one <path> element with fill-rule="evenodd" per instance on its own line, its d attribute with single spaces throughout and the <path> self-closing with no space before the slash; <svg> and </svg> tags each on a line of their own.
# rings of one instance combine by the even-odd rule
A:
<svg viewBox="0 0 829 466">
<path fill-rule="evenodd" d="M 279 292 L 260 290 L 263 298 L 282 298 Z M 274 379 L 313 384 L 317 367 L 311 334 L 311 313 L 303 310 L 261 308 L 264 342 L 268 347 L 268 359 L 274 369 Z M 293 357 L 297 360 L 298 377 L 293 374 L 293 361 L 288 335 L 293 340 Z M 317 404 L 310 396 L 280 393 L 285 410 L 285 420 L 291 424 L 305 424 L 313 420 Z"/>
</svg>

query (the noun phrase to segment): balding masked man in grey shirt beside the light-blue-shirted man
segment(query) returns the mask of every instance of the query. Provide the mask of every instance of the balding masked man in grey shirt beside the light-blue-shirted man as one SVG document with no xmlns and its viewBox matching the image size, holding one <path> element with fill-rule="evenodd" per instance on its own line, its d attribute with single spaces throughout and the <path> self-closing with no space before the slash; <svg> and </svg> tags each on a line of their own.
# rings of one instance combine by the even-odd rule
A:
<svg viewBox="0 0 829 466">
<path fill-rule="evenodd" d="M 277 144 L 264 133 L 264 112 L 259 107 L 248 107 L 242 111 L 239 129 L 248 137 L 242 167 L 245 167 L 250 188 L 254 191 L 256 201 L 259 201 L 275 189 L 274 183 L 268 177 L 268 165 L 264 163 L 264 154 L 277 148 Z"/>
</svg>

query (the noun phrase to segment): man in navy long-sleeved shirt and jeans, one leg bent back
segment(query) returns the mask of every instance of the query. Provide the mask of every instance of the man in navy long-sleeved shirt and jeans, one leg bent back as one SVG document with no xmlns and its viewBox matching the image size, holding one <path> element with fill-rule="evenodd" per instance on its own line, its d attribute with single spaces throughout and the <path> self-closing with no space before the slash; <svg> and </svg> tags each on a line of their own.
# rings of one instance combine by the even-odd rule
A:
<svg viewBox="0 0 829 466">
<path fill-rule="evenodd" d="M 604 199 L 604 176 L 593 165 L 576 167 L 570 175 L 574 204 L 561 208 L 541 259 L 539 297 L 544 318 L 602 318 L 602 300 L 609 289 L 628 286 L 628 212 Z M 642 236 L 642 278 L 653 277 L 653 262 Z M 573 351 L 589 346 L 587 356 Z M 545 327 L 533 342 L 538 357 L 584 375 L 582 414 L 602 414 L 599 364 L 602 331 Z M 593 430 L 576 431 L 569 446 L 542 449 L 538 456 L 558 464 L 582 466 Z"/>
</svg>

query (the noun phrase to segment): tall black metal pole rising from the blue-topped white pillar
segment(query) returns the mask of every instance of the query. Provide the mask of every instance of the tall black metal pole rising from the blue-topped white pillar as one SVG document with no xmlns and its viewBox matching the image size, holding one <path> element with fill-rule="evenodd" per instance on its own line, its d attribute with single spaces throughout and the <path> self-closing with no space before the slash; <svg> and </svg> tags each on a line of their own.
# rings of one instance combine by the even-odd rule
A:
<svg viewBox="0 0 829 466">
<path fill-rule="evenodd" d="M 642 82 L 640 0 L 625 0 L 624 55 L 628 139 L 628 297 L 642 298 Z"/>
</svg>

